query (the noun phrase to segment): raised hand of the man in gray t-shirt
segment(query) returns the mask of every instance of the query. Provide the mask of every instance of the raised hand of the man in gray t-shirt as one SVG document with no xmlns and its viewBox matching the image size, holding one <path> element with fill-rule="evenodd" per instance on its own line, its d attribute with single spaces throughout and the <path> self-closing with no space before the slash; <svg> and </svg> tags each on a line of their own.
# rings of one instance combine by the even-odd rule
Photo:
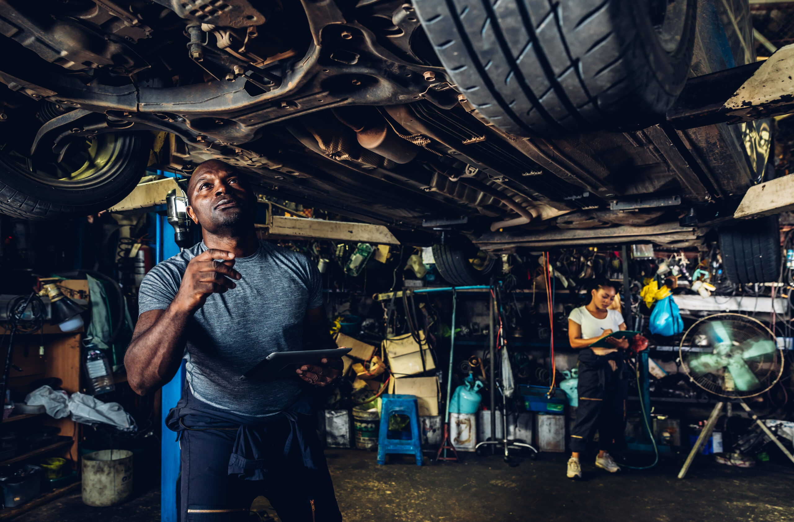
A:
<svg viewBox="0 0 794 522">
<path fill-rule="evenodd" d="M 216 259 L 220 259 L 216 261 Z M 210 294 L 224 294 L 242 276 L 233 269 L 234 254 L 210 248 L 187 263 L 182 284 L 172 304 L 187 312 L 201 308 Z"/>
</svg>

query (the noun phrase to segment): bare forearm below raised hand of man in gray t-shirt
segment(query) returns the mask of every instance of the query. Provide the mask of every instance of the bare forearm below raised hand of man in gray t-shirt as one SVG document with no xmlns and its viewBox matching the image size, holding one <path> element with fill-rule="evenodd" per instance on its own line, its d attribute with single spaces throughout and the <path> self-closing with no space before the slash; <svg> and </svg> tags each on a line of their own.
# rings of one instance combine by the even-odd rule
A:
<svg viewBox="0 0 794 522">
<path fill-rule="evenodd" d="M 156 317 L 145 317 L 152 313 Z M 167 309 L 141 315 L 124 357 L 129 386 L 135 393 L 145 395 L 174 377 L 183 358 L 184 333 L 191 315 L 173 303 Z"/>
</svg>

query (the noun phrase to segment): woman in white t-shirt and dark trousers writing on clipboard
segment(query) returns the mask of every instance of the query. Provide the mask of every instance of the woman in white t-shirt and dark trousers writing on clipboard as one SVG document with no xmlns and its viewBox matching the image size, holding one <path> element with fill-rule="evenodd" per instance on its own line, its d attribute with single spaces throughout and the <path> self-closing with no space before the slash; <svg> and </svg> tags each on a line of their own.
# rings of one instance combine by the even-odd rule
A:
<svg viewBox="0 0 794 522">
<path fill-rule="evenodd" d="M 596 280 L 590 292 L 590 302 L 574 309 L 568 317 L 568 338 L 572 348 L 579 351 L 579 383 L 576 424 L 571 430 L 571 459 L 568 477 L 581 478 L 579 454 L 599 432 L 599 454 L 595 466 L 610 473 L 620 468 L 608 450 L 620 446 L 626 430 L 626 397 L 628 381 L 623 377 L 622 350 L 627 340 L 607 340 L 611 348 L 589 346 L 617 330 L 625 330 L 626 323 L 618 310 L 609 309 L 615 301 L 615 283 Z"/>
</svg>

